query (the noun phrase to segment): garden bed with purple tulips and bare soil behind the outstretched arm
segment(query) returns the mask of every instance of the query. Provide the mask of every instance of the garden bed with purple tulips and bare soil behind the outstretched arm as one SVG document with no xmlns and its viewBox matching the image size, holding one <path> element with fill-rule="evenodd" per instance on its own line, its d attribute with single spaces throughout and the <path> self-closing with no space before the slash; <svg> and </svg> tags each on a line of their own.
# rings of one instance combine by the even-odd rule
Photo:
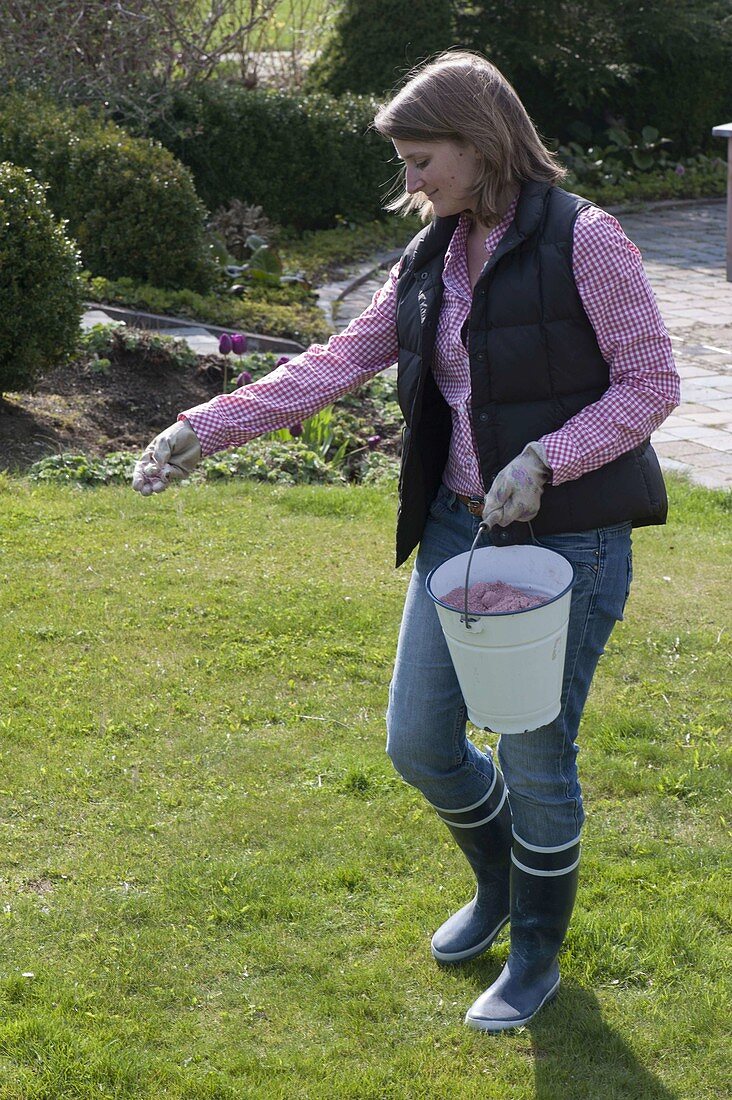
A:
<svg viewBox="0 0 732 1100">
<path fill-rule="evenodd" d="M 197 356 L 170 337 L 99 326 L 83 339 L 77 359 L 48 372 L 34 393 L 0 399 L 0 469 L 62 481 L 123 480 L 178 413 L 236 388 L 240 371 L 256 381 L 275 363 L 271 353 Z M 369 469 L 372 476 L 376 468 L 393 473 L 400 436 L 395 384 L 379 377 L 292 431 L 207 460 L 204 473 L 361 481 Z"/>
</svg>

